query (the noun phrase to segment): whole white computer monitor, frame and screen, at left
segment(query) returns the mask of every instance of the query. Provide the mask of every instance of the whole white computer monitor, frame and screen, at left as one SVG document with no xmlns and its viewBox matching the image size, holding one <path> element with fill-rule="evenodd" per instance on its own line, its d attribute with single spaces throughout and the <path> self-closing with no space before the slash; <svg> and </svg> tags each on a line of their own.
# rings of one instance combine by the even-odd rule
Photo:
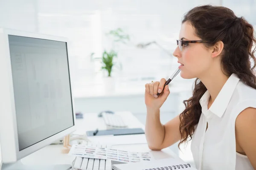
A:
<svg viewBox="0 0 256 170">
<path fill-rule="evenodd" d="M 76 130 L 69 63 L 67 39 L 0 28 L 4 168 Z"/>
</svg>

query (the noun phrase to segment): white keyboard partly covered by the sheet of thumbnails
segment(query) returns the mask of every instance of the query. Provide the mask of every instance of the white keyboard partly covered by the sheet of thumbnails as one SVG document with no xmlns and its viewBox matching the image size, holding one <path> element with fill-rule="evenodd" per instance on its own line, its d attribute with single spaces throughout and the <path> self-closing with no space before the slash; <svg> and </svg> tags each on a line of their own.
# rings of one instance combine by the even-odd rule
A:
<svg viewBox="0 0 256 170">
<path fill-rule="evenodd" d="M 109 145 L 94 144 L 84 141 L 82 144 L 93 147 L 111 147 Z M 82 158 L 77 156 L 73 161 L 72 170 L 112 170 L 111 160 Z"/>
</svg>

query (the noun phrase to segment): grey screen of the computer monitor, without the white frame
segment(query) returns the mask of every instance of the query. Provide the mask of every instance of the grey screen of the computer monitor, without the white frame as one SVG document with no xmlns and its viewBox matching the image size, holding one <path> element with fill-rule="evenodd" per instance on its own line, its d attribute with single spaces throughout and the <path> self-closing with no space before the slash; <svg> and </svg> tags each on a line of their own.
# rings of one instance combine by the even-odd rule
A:
<svg viewBox="0 0 256 170">
<path fill-rule="evenodd" d="M 9 35 L 19 150 L 74 126 L 67 43 Z"/>
</svg>

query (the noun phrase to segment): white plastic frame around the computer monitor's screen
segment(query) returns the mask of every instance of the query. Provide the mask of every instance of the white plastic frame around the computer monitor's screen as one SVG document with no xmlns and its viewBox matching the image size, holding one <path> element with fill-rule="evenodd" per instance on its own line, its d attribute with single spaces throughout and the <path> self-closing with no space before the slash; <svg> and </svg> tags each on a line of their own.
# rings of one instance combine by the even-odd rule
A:
<svg viewBox="0 0 256 170">
<path fill-rule="evenodd" d="M 18 135 L 17 135 L 17 120 L 15 112 L 15 97 L 12 81 L 12 67 L 9 51 L 9 35 L 31 37 L 44 40 L 54 40 L 66 42 L 67 45 L 67 59 L 70 77 L 70 91 L 73 105 L 73 126 L 54 134 L 53 136 L 43 139 L 23 150 L 19 150 Z M 74 109 L 74 99 L 72 93 L 72 77 L 70 76 L 70 55 L 69 55 L 69 42 L 65 37 L 58 37 L 40 33 L 32 33 L 26 31 L 18 31 L 8 28 L 0 28 L 0 79 L 2 79 L 0 88 L 0 144 L 1 155 L 3 163 L 15 162 L 28 156 L 31 153 L 51 144 L 52 142 L 66 136 L 76 130 L 76 113 Z M 2 51 L 2 52 L 1 52 Z M 10 114 L 6 114 L 10 113 Z"/>
</svg>

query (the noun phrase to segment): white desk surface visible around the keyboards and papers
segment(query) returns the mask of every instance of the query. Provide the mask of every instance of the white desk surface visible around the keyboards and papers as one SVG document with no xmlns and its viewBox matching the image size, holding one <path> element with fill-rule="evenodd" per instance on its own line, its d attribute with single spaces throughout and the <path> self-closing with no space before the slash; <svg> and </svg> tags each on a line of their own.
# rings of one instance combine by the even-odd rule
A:
<svg viewBox="0 0 256 170">
<path fill-rule="evenodd" d="M 122 118 L 128 124 L 128 127 L 145 128 L 138 119 L 130 112 L 118 112 L 116 114 L 122 115 Z M 84 119 L 77 119 L 77 130 L 75 133 L 84 134 L 87 130 L 95 130 L 97 127 L 101 130 L 106 129 L 104 120 L 99 118 L 96 113 L 85 113 Z M 63 145 L 49 145 L 42 148 L 41 150 L 32 153 L 29 156 L 21 159 L 23 164 L 72 164 L 75 156 L 69 156 L 68 154 L 61 153 Z M 123 144 L 123 145 L 112 145 L 112 148 L 148 152 L 150 151 L 154 156 L 154 159 L 164 159 L 169 157 L 177 158 L 177 155 L 172 152 L 169 148 L 161 151 L 152 151 L 148 148 L 146 143 L 143 144 Z"/>
</svg>

